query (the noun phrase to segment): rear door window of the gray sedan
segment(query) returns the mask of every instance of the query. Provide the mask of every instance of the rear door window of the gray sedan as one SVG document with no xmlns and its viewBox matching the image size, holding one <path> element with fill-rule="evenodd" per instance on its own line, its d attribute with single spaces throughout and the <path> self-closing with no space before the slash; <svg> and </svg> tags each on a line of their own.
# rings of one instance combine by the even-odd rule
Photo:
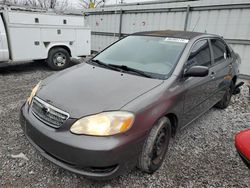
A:
<svg viewBox="0 0 250 188">
<path fill-rule="evenodd" d="M 224 60 L 231 56 L 231 53 L 224 42 L 219 39 L 211 39 L 212 50 L 214 53 L 214 63 L 224 62 Z"/>
</svg>

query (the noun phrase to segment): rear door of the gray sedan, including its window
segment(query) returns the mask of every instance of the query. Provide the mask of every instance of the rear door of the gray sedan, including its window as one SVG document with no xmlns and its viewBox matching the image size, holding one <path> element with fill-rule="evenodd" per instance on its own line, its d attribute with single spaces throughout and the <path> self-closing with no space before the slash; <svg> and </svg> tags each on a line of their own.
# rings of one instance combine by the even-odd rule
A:
<svg viewBox="0 0 250 188">
<path fill-rule="evenodd" d="M 230 49 L 222 39 L 212 38 L 210 44 L 212 51 L 211 72 L 214 74 L 212 79 L 215 85 L 213 102 L 215 104 L 222 99 L 232 80 L 233 58 Z"/>
</svg>

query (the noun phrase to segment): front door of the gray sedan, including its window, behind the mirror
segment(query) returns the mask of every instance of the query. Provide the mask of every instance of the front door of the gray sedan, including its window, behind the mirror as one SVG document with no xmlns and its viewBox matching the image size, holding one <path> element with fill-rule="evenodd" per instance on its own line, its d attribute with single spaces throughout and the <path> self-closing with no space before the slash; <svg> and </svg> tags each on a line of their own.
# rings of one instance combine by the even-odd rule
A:
<svg viewBox="0 0 250 188">
<path fill-rule="evenodd" d="M 192 66 L 211 67 L 211 52 L 207 39 L 196 42 L 184 66 L 184 71 Z M 186 88 L 184 102 L 184 124 L 189 123 L 210 107 L 213 83 L 211 75 L 206 77 L 189 77 L 184 81 Z"/>
</svg>

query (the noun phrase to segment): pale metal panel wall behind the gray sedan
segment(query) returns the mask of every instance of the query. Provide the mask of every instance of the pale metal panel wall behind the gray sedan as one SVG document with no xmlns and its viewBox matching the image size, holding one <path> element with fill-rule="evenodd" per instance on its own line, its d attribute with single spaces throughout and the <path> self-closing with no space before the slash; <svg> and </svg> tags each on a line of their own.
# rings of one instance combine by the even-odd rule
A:
<svg viewBox="0 0 250 188">
<path fill-rule="evenodd" d="M 138 31 L 207 32 L 223 36 L 242 59 L 240 73 L 250 75 L 250 0 L 145 3 L 110 6 L 88 13 L 94 51 Z"/>
</svg>

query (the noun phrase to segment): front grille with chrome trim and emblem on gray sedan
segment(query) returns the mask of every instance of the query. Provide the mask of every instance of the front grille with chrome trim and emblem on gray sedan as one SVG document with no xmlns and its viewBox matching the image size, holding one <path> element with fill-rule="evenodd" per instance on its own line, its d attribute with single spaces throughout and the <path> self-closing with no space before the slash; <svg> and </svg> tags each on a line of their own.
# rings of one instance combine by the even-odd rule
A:
<svg viewBox="0 0 250 188">
<path fill-rule="evenodd" d="M 59 128 L 69 118 L 69 114 L 45 101 L 34 97 L 32 102 L 32 113 L 45 124 Z"/>
</svg>

